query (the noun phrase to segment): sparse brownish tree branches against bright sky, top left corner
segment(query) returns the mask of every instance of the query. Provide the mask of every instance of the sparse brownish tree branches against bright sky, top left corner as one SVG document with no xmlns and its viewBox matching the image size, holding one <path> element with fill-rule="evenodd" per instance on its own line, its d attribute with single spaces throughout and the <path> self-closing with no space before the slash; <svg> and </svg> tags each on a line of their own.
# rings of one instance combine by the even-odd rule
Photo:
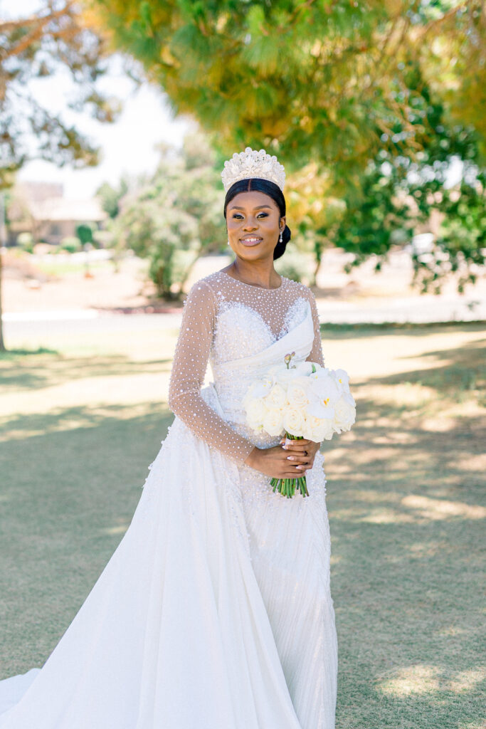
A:
<svg viewBox="0 0 486 729">
<path fill-rule="evenodd" d="M 33 157 L 59 166 L 96 165 L 98 149 L 52 114 L 31 86 L 35 79 L 68 71 L 77 90 L 68 107 L 114 121 L 118 102 L 96 88 L 110 52 L 106 37 L 73 0 L 43 0 L 32 15 L 0 21 L 0 47 L 0 188 L 10 187 L 15 171 Z"/>
</svg>

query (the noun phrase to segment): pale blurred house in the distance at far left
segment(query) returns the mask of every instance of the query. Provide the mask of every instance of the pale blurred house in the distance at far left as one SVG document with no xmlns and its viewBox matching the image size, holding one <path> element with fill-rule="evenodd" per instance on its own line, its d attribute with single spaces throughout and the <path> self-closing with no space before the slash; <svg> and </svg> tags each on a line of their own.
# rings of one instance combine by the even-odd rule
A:
<svg viewBox="0 0 486 729">
<path fill-rule="evenodd" d="M 17 235 L 31 233 L 34 242 L 58 245 L 63 238 L 76 235 L 77 225 L 87 223 L 101 228 L 108 217 L 96 198 L 69 200 L 63 186 L 44 182 L 17 184 L 8 207 L 9 245 Z"/>
</svg>

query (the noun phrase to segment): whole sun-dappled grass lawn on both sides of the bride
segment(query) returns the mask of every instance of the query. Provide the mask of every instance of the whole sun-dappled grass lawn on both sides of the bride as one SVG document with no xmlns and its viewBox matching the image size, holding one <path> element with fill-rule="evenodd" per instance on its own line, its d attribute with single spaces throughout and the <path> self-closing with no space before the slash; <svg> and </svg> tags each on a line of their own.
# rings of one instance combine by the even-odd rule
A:
<svg viewBox="0 0 486 729">
<path fill-rule="evenodd" d="M 1 677 L 42 665 L 130 522 L 172 421 L 176 332 L 143 337 L 0 360 Z M 333 327 L 323 343 L 358 404 L 323 446 L 337 729 L 484 728 L 484 330 Z"/>
</svg>

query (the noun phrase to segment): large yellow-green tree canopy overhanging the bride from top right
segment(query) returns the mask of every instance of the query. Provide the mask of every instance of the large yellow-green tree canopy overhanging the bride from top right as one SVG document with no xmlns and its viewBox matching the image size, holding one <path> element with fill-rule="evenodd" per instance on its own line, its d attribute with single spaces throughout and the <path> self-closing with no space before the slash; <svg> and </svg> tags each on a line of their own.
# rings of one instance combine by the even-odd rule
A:
<svg viewBox="0 0 486 729">
<path fill-rule="evenodd" d="M 247 144 L 278 154 L 302 212 L 299 230 L 314 226 L 316 270 L 330 244 L 352 249 L 357 265 L 377 251 L 385 256 L 394 227 L 412 235 L 439 204 L 439 191 L 432 198 L 429 192 L 443 186 L 443 175 L 428 184 L 420 178 L 428 168 L 443 171 L 458 155 L 466 155 L 460 159 L 476 175 L 485 167 L 481 0 L 91 5 L 119 47 L 164 88 L 174 112 L 192 114 L 211 134 L 218 166 Z M 305 201 L 294 179 L 309 171 L 311 200 Z M 328 197 L 319 200 L 324 190 Z M 416 201 L 422 195 L 415 218 L 398 192 Z M 446 198 L 444 211 L 454 215 L 459 208 L 447 206 Z M 482 204 L 479 194 L 478 208 Z M 480 262 L 480 247 L 474 247 L 482 245 L 480 236 L 471 243 L 456 235 L 454 245 L 466 267 Z M 415 263 L 422 283 L 428 274 L 437 283 L 447 271 L 446 262 L 431 264 L 424 277 L 423 261 Z"/>
</svg>

